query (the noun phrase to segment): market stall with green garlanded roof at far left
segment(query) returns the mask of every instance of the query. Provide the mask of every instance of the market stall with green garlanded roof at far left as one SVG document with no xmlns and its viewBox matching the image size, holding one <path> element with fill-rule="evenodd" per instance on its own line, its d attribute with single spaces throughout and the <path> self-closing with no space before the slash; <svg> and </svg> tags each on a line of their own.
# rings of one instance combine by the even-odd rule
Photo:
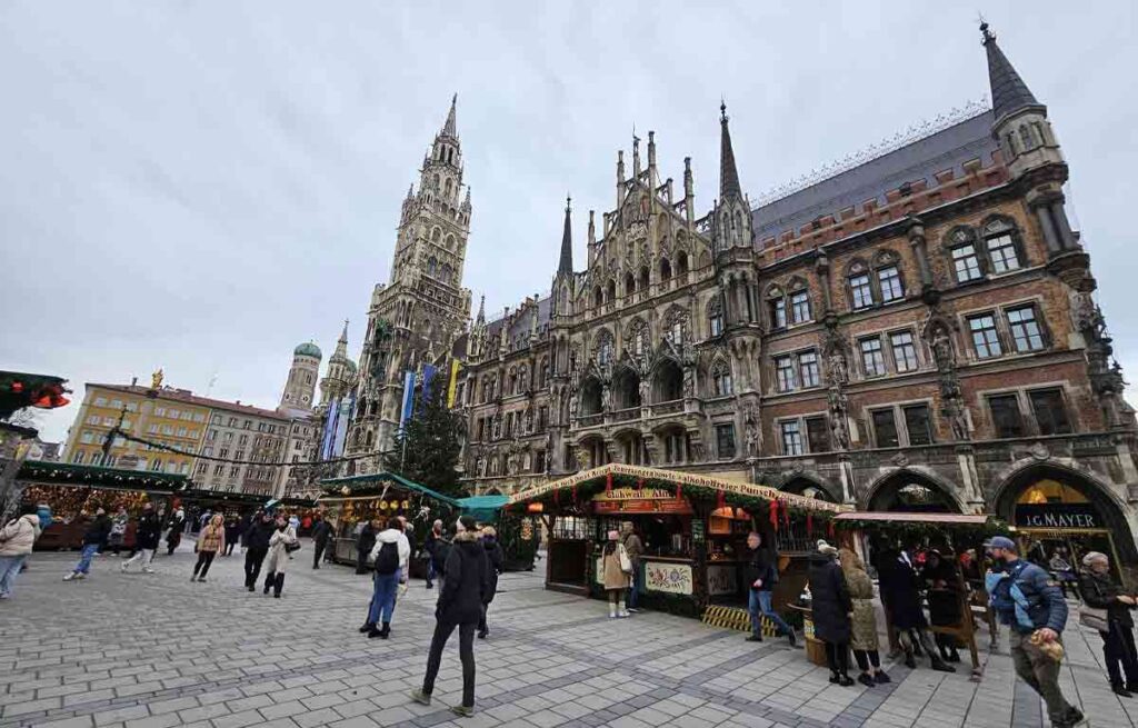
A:
<svg viewBox="0 0 1138 728">
<path fill-rule="evenodd" d="M 168 513 L 185 491 L 189 479 L 147 470 L 24 461 L 16 485 L 22 505 L 47 506 L 51 512 L 51 524 L 35 541 L 36 551 L 79 548 L 96 511 L 104 508 L 113 514 L 118 506 L 124 506 L 131 515 L 123 539 L 123 545 L 130 548 L 134 544 L 135 516 L 142 505 L 154 503 L 159 512 Z"/>
</svg>

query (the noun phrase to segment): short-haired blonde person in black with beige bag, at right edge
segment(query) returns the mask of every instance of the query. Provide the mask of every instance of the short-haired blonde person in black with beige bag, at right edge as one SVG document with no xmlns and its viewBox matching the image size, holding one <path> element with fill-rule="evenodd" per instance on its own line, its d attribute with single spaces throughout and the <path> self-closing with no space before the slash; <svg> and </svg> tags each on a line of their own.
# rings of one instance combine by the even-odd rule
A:
<svg viewBox="0 0 1138 728">
<path fill-rule="evenodd" d="M 1079 593 L 1085 605 L 1106 610 L 1106 629 L 1099 629 L 1098 635 L 1103 638 L 1103 657 L 1111 689 L 1122 697 L 1133 697 L 1138 693 L 1138 652 L 1135 651 L 1135 620 L 1130 612 L 1138 602 L 1114 582 L 1110 559 L 1097 551 L 1082 557 Z"/>
</svg>

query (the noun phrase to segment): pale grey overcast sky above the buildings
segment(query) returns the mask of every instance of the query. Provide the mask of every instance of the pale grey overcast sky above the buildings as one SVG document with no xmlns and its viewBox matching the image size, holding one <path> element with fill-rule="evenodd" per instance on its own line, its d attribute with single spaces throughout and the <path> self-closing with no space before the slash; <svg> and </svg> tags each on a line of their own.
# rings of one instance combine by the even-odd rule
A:
<svg viewBox="0 0 1138 728">
<path fill-rule="evenodd" d="M 576 260 L 618 148 L 655 130 L 744 189 L 988 94 L 976 6 L 1048 106 L 1118 353 L 1138 378 L 1136 3 L 44 2 L 0 5 L 0 369 L 166 382 L 275 406 L 292 347 L 358 356 L 399 204 L 459 93 L 464 286 L 545 291 L 566 192 Z M 404 9 L 396 9 L 403 6 Z M 955 7 L 959 6 L 959 8 Z M 1130 71 L 1127 71 L 1130 68 Z M 702 214 L 702 213 L 701 213 Z"/>
</svg>

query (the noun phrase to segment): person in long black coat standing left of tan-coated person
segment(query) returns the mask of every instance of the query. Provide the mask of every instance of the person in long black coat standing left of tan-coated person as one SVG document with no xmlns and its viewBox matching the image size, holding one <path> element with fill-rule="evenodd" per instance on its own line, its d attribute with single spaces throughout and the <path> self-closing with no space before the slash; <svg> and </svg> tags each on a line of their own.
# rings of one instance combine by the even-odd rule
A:
<svg viewBox="0 0 1138 728">
<path fill-rule="evenodd" d="M 853 678 L 849 676 L 853 602 L 846 577 L 834 559 L 836 553 L 836 548 L 819 540 L 818 551 L 810 554 L 810 606 L 814 635 L 826 644 L 830 681 L 849 686 L 853 685 Z"/>
</svg>

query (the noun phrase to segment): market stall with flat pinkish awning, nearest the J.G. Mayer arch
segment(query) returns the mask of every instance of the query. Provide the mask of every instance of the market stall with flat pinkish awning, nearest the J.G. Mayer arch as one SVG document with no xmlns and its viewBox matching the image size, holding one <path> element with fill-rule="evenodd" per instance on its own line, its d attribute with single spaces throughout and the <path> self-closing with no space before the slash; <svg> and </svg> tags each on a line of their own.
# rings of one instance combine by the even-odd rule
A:
<svg viewBox="0 0 1138 728">
<path fill-rule="evenodd" d="M 902 548 L 938 548 L 956 561 L 959 581 L 946 589 L 935 589 L 959 601 L 960 621 L 950 626 L 933 626 L 929 631 L 950 635 L 963 643 L 972 659 L 972 677 L 981 676 L 980 655 L 976 648 L 976 620 L 988 626 L 991 648 L 996 647 L 998 627 L 996 617 L 988 605 L 988 594 L 983 587 L 983 569 L 976 564 L 976 573 L 970 578 L 958 561 L 959 555 L 974 549 L 976 557 L 983 557 L 983 541 L 991 536 L 1011 536 L 1006 523 L 988 514 L 959 513 L 904 513 L 904 512 L 846 512 L 834 518 L 839 543 L 852 548 L 866 565 L 877 564 L 877 551 L 888 544 Z M 934 592 L 930 589 L 929 594 Z M 897 648 L 897 634 L 884 610 L 885 631 L 891 648 Z"/>
</svg>

